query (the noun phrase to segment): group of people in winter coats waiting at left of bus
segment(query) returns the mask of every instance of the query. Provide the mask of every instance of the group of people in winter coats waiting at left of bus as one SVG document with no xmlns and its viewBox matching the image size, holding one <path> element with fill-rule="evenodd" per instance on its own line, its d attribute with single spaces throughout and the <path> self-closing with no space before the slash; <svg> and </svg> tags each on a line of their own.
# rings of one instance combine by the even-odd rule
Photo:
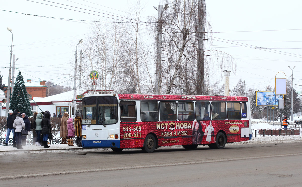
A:
<svg viewBox="0 0 302 187">
<path fill-rule="evenodd" d="M 49 148 L 48 137 L 51 134 L 50 112 L 35 112 L 33 118 L 30 121 L 25 113 L 21 113 L 18 109 L 9 110 L 7 118 L 7 134 L 4 145 L 8 145 L 9 135 L 13 134 L 13 147 L 17 149 L 23 149 L 22 145 L 26 145 L 26 137 L 22 136 L 21 131 L 27 130 L 33 132 L 32 145 L 44 146 Z M 59 113 L 58 117 L 61 118 L 60 123 L 60 137 L 62 137 L 61 144 L 68 144 L 73 146 L 73 137 L 76 136 L 76 145 L 82 147 L 82 118 L 81 113 L 76 112 L 76 117 L 73 120 L 69 117 L 68 112 Z M 56 117 L 53 113 L 53 117 Z"/>
</svg>

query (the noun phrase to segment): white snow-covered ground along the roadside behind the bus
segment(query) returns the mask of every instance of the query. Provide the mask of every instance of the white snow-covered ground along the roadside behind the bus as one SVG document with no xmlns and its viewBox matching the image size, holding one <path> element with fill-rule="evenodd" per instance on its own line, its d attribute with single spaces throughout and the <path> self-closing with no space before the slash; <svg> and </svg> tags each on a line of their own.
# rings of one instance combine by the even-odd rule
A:
<svg viewBox="0 0 302 187">
<path fill-rule="evenodd" d="M 257 121 L 258 123 L 252 125 L 253 130 L 258 129 L 279 129 L 279 126 L 270 125 L 267 123 L 261 123 L 263 120 L 252 120 Z M 259 123 L 260 122 L 260 123 Z M 277 122 L 277 121 L 276 121 Z M 278 123 L 278 122 L 277 122 Z M 300 129 L 301 132 L 302 128 Z M 10 136 L 12 137 L 12 135 Z M 2 134 L 1 138 L 4 138 L 4 134 Z M 252 137 L 249 141 L 244 142 L 236 142 L 232 144 L 227 144 L 226 146 L 233 146 L 233 145 L 244 145 L 244 144 L 267 144 L 267 143 L 289 143 L 289 142 L 302 142 L 302 136 L 295 135 L 295 136 L 260 136 L 260 137 Z M 175 146 L 174 146 L 175 147 Z M 181 147 L 181 146 L 180 146 Z M 43 153 L 43 152 L 70 152 L 70 151 L 79 151 L 79 152 L 86 152 L 94 149 L 84 149 L 82 147 L 77 146 L 68 146 L 66 144 L 51 144 L 49 149 L 43 148 L 43 146 L 23 146 L 24 149 L 17 150 L 13 146 L 0 146 L 0 155 L 2 154 L 18 154 L 24 152 L 35 152 L 35 153 Z M 168 147 L 162 147 L 168 148 Z M 101 149 L 103 151 L 111 151 L 111 149 Z M 98 149 L 100 151 L 100 149 Z"/>
</svg>

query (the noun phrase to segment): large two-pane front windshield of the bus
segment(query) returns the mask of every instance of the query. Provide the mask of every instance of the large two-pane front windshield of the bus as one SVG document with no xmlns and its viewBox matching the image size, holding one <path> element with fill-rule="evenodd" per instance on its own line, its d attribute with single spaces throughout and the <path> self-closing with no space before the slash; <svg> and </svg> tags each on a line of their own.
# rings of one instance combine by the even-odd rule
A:
<svg viewBox="0 0 302 187">
<path fill-rule="evenodd" d="M 95 96 L 83 98 L 82 124 L 107 125 L 117 123 L 117 98 Z"/>
</svg>

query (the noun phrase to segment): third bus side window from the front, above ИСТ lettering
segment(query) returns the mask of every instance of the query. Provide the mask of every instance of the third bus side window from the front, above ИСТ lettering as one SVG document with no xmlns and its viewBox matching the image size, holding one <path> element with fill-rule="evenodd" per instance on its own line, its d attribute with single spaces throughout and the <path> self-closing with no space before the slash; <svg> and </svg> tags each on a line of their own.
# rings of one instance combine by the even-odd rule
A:
<svg viewBox="0 0 302 187">
<path fill-rule="evenodd" d="M 177 111 L 175 101 L 159 102 L 159 113 L 161 121 L 176 121 Z"/>
</svg>

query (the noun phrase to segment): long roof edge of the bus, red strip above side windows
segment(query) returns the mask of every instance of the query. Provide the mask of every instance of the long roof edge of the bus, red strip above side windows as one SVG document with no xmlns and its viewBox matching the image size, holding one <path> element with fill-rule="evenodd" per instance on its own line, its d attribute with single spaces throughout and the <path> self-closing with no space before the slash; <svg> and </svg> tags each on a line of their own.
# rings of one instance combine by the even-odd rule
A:
<svg viewBox="0 0 302 187">
<path fill-rule="evenodd" d="M 245 101 L 248 97 L 241 96 L 209 96 L 209 95 L 150 95 L 150 94 L 95 94 L 90 96 L 118 96 L 119 100 L 205 100 L 205 101 Z"/>
</svg>

